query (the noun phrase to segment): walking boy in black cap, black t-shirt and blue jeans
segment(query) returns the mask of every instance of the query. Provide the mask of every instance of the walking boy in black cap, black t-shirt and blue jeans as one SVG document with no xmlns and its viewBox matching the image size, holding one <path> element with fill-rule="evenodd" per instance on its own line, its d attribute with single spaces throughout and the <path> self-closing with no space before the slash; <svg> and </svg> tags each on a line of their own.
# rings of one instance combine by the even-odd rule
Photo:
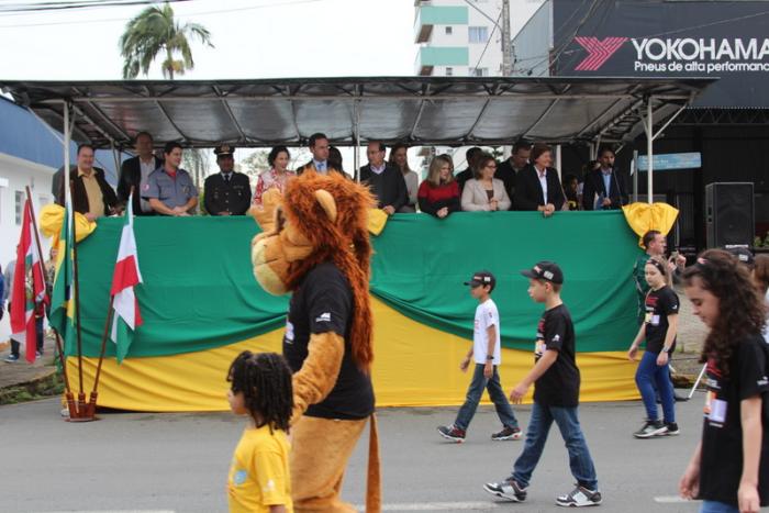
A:
<svg viewBox="0 0 769 513">
<path fill-rule="evenodd" d="M 528 295 L 537 303 L 545 303 L 545 313 L 537 326 L 536 364 L 510 393 L 510 399 L 520 403 L 534 383 L 532 417 L 523 453 L 515 460 L 512 475 L 500 482 L 486 483 L 483 490 L 513 502 L 524 501 L 530 479 L 555 421 L 569 451 L 571 475 L 577 480 L 577 488 L 559 495 L 556 504 L 576 508 L 598 505 L 602 498 L 595 468 L 577 414 L 580 376 L 571 315 L 560 299 L 564 272 L 555 263 L 540 261 L 521 274 L 530 279 Z"/>
</svg>

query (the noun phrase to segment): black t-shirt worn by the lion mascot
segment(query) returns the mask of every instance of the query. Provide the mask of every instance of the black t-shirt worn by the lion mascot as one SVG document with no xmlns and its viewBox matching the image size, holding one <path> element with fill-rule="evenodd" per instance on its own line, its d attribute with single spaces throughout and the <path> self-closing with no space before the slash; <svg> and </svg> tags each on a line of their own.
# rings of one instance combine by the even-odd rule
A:
<svg viewBox="0 0 769 513">
<path fill-rule="evenodd" d="M 302 368 L 312 334 L 334 332 L 345 339 L 336 384 L 323 401 L 308 408 L 309 416 L 358 420 L 374 413 L 371 379 L 353 360 L 349 328 L 354 314 L 349 282 L 332 263 L 308 272 L 291 297 L 283 336 L 283 356 L 291 370 Z"/>
</svg>

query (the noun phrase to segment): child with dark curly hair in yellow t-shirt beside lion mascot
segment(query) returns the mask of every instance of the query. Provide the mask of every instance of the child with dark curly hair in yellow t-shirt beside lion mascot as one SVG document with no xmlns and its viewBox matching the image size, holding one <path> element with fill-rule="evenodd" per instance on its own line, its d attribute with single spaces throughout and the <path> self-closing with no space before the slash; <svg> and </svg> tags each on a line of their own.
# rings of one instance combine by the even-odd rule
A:
<svg viewBox="0 0 769 513">
<path fill-rule="evenodd" d="M 230 409 L 248 415 L 227 476 L 233 513 L 292 513 L 289 420 L 291 370 L 275 353 L 241 353 L 230 366 Z"/>
</svg>

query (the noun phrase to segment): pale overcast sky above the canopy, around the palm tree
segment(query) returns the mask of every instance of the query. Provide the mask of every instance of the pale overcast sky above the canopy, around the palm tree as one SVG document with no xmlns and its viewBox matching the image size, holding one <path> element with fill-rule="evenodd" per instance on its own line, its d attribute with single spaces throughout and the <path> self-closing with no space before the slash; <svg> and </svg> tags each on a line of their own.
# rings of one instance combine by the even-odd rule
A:
<svg viewBox="0 0 769 513">
<path fill-rule="evenodd" d="M 0 8 L 40 1 L 0 0 Z M 540 3 L 511 0 L 513 34 Z M 215 46 L 193 44 L 187 79 L 414 75 L 413 0 L 192 0 L 172 8 L 181 22 L 204 25 Z M 0 13 L 0 78 L 120 79 L 118 40 L 143 9 Z M 147 78 L 163 78 L 157 64 Z"/>
</svg>

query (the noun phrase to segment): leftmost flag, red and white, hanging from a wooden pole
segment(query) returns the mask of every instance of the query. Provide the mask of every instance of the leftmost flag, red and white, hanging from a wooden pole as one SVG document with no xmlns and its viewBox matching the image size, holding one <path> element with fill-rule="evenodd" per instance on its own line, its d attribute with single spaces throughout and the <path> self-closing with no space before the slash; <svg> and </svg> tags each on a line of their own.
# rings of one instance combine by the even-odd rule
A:
<svg viewBox="0 0 769 513">
<path fill-rule="evenodd" d="M 27 198 L 24 202 L 24 216 L 16 246 L 16 266 L 13 269 L 11 291 L 11 336 L 24 343 L 24 353 L 29 363 L 35 360 L 37 352 L 35 311 L 42 313 L 44 303 L 48 301 L 32 215 L 32 203 Z"/>
</svg>

